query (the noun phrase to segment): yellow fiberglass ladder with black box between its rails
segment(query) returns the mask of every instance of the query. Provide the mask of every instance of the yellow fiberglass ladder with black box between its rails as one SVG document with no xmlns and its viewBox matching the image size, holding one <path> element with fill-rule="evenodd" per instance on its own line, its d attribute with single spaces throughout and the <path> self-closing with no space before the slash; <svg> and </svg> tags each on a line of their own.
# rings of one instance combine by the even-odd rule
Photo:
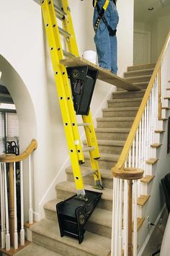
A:
<svg viewBox="0 0 170 256">
<path fill-rule="evenodd" d="M 88 114 L 82 115 L 83 122 L 78 124 L 76 121 L 76 114 L 73 104 L 73 96 L 71 93 L 71 85 L 68 80 L 69 72 L 73 74 L 73 85 L 75 85 L 74 79 L 79 76 L 79 72 L 86 72 L 84 69 L 71 69 L 66 68 L 61 64 L 61 60 L 64 58 L 79 57 L 79 51 L 76 44 L 76 38 L 73 30 L 73 23 L 71 20 L 71 12 L 68 7 L 67 0 L 61 0 L 62 8 L 53 4 L 53 0 L 41 0 L 42 16 L 45 23 L 46 35 L 48 38 L 48 46 L 50 48 L 50 58 L 53 64 L 53 72 L 55 77 L 55 85 L 58 91 L 58 99 L 61 106 L 61 114 L 63 117 L 63 125 L 66 132 L 66 140 L 68 142 L 68 150 L 71 158 L 71 166 L 73 169 L 73 177 L 76 184 L 77 198 L 80 200 L 88 200 L 86 197 L 86 191 L 84 190 L 84 182 L 81 175 L 80 165 L 84 163 L 84 153 L 81 147 L 81 140 L 79 137 L 79 126 L 84 126 L 87 148 L 89 150 L 89 156 L 91 161 L 91 168 L 93 171 L 94 182 L 97 189 L 103 189 L 102 179 L 99 172 L 99 149 L 97 145 L 97 138 L 94 131 L 94 124 L 91 117 L 91 111 Z M 59 27 L 61 22 L 62 28 Z M 63 49 L 61 36 L 65 38 L 66 49 Z M 82 68 L 82 67 L 81 67 Z M 91 73 L 91 71 L 89 71 Z M 96 78 L 97 78 L 97 74 Z M 88 77 L 93 74 L 89 75 Z M 89 78 L 91 82 L 91 77 Z M 81 80 L 78 81 L 78 83 Z M 81 84 L 79 85 L 79 89 Z M 91 95 L 92 96 L 92 95 Z"/>
</svg>

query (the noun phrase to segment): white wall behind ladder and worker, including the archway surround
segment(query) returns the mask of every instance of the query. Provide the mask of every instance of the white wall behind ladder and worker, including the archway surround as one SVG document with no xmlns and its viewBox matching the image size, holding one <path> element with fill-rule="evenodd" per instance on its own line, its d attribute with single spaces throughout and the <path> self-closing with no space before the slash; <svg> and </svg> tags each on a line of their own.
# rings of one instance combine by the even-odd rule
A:
<svg viewBox="0 0 170 256">
<path fill-rule="evenodd" d="M 69 3 L 80 54 L 86 49 L 95 49 L 91 1 L 70 0 Z M 38 143 L 34 157 L 34 210 L 38 219 L 43 213 L 43 203 L 55 197 L 55 184 L 66 179 L 68 150 L 40 5 L 28 0 L 0 0 L 0 6 L 0 70 L 4 70 L 2 81 L 17 106 L 21 152 L 33 137 Z M 122 74 L 133 64 L 133 0 L 128 3 L 120 0 L 117 8 L 120 14 L 118 67 Z M 99 116 L 114 89 L 97 82 L 91 103 L 94 116 Z"/>
</svg>

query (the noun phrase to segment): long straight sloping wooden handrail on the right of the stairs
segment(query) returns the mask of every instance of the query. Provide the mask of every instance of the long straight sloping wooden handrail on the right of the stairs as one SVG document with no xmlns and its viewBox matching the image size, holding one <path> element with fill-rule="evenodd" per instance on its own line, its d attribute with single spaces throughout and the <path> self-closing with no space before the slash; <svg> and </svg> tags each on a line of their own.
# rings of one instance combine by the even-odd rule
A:
<svg viewBox="0 0 170 256">
<path fill-rule="evenodd" d="M 158 57 L 158 61 L 156 62 L 156 67 L 155 67 L 155 69 L 153 71 L 153 74 L 151 76 L 151 80 L 148 84 L 148 88 L 146 89 L 146 93 L 143 96 L 143 100 L 140 104 L 140 108 L 138 109 L 138 113 L 135 116 L 135 120 L 133 121 L 133 126 L 130 129 L 130 133 L 129 133 L 128 138 L 125 142 L 124 148 L 122 149 L 122 153 L 120 154 L 120 158 L 117 161 L 117 164 L 114 167 L 112 167 L 112 173 L 115 173 L 116 171 L 122 170 L 124 168 L 125 160 L 128 157 L 128 153 L 130 151 L 131 146 L 133 145 L 133 140 L 135 138 L 136 131 L 139 127 L 140 120 L 142 119 L 143 112 L 146 108 L 146 104 L 148 102 L 149 95 L 150 95 L 151 90 L 153 88 L 153 84 L 154 84 L 154 81 L 156 79 L 156 75 L 158 74 L 159 69 L 161 68 L 161 61 L 162 61 L 163 56 L 165 54 L 166 48 L 169 44 L 169 40 L 170 40 L 170 30 L 169 30 L 169 34 L 166 38 L 166 42 L 164 43 L 164 47 L 162 48 L 161 54 Z"/>
</svg>

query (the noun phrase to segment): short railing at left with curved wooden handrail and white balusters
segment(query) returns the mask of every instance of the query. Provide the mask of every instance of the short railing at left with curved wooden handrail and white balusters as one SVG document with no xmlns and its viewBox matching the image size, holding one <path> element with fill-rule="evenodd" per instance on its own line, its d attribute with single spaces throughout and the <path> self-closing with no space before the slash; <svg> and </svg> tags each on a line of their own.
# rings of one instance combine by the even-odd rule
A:
<svg viewBox="0 0 170 256">
<path fill-rule="evenodd" d="M 32 210 L 32 152 L 37 148 L 37 141 L 32 140 L 30 145 L 21 155 L 0 155 L 0 186 L 1 186 L 1 249 L 9 251 L 11 246 L 18 249 L 17 233 L 17 179 L 16 165 L 19 162 L 20 174 L 20 205 L 21 226 L 20 244 L 24 245 L 24 189 L 23 167 L 24 159 L 29 158 L 29 223 L 33 223 Z M 9 189 L 8 189 L 9 188 Z M 8 193 L 9 190 L 9 193 Z"/>
</svg>

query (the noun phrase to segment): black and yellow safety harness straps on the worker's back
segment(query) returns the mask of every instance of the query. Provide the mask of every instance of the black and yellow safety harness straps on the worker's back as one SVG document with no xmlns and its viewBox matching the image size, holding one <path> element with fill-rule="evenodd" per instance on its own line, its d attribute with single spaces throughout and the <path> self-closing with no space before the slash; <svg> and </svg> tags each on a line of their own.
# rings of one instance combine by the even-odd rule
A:
<svg viewBox="0 0 170 256">
<path fill-rule="evenodd" d="M 97 33 L 97 29 L 99 28 L 99 24 L 102 20 L 104 24 L 107 26 L 109 35 L 114 36 L 116 35 L 117 30 L 113 30 L 112 27 L 109 26 L 106 18 L 104 17 L 104 12 L 106 11 L 108 5 L 109 5 L 109 0 L 106 0 L 104 3 L 104 6 L 102 7 L 102 9 L 100 9 L 99 4 L 97 3 L 97 0 L 94 0 L 94 7 L 97 7 L 97 12 L 99 14 L 99 17 L 97 18 L 97 22 L 94 24 L 94 32 Z"/>
</svg>

